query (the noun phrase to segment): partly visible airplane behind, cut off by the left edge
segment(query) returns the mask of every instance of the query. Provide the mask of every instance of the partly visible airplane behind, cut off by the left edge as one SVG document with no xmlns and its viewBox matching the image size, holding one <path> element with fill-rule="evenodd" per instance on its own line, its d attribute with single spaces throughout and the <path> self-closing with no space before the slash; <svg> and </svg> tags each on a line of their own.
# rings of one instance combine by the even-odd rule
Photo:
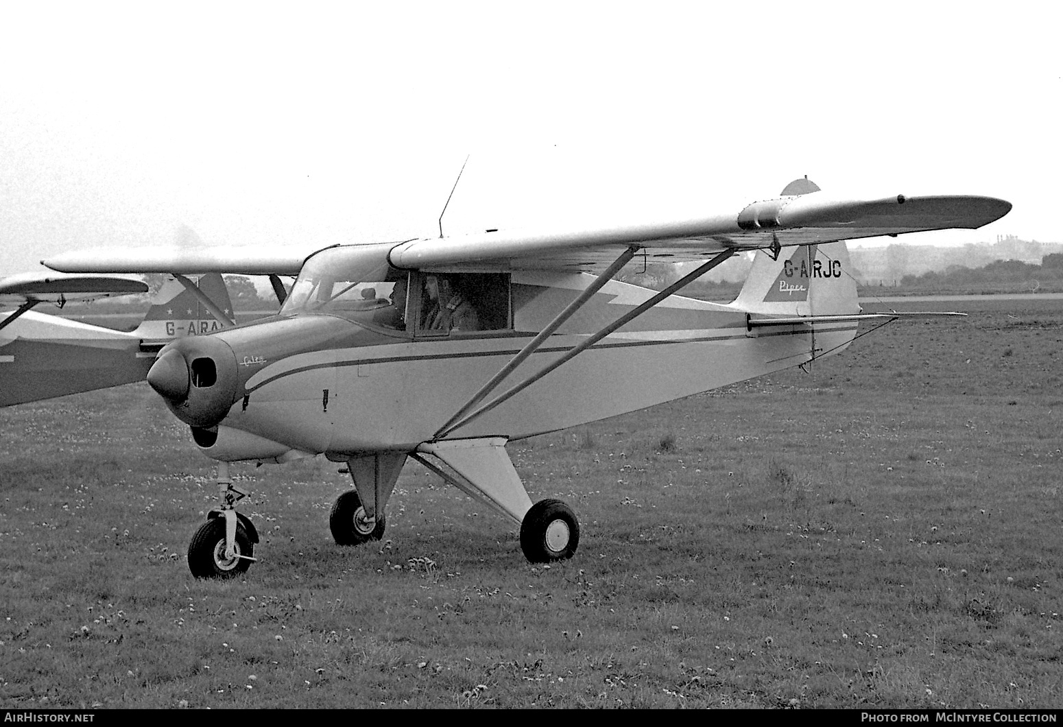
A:
<svg viewBox="0 0 1063 727">
<path fill-rule="evenodd" d="M 144 381 L 155 354 L 174 338 L 233 325 L 232 303 L 218 273 L 198 284 L 169 278 L 131 332 L 32 310 L 52 303 L 148 292 L 132 277 L 22 273 L 0 277 L 0 406 Z"/>
</svg>

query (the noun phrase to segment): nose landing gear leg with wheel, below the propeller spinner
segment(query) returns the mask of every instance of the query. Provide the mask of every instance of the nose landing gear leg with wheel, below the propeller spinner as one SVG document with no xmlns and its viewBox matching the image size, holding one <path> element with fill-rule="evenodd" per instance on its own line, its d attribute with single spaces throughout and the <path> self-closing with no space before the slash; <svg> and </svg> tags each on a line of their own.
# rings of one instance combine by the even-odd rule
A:
<svg viewBox="0 0 1063 727">
<path fill-rule="evenodd" d="M 197 578 L 232 578 L 246 573 L 256 560 L 253 554 L 258 532 L 236 511 L 236 503 L 248 493 L 233 487 L 229 462 L 218 462 L 217 479 L 222 505 L 207 513 L 207 521 L 188 544 L 188 570 Z"/>
</svg>

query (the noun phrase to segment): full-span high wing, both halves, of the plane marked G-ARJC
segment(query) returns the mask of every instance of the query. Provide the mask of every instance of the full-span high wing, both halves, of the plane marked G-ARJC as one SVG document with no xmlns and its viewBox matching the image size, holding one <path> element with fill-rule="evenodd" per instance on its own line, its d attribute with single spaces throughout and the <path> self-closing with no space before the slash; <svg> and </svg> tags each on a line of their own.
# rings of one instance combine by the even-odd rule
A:
<svg viewBox="0 0 1063 727">
<path fill-rule="evenodd" d="M 804 185 L 799 184 L 804 182 Z M 792 192 L 792 193 L 791 193 Z M 657 222 L 612 222 L 580 227 L 489 231 L 475 235 L 398 241 L 389 259 L 421 270 L 601 271 L 625 248 L 642 248 L 636 263 L 701 260 L 727 250 L 774 249 L 881 235 L 976 229 L 999 219 L 1011 204 L 992 197 L 894 195 L 876 199 L 827 197 L 807 180 L 783 195 L 736 205 L 715 215 Z M 43 260 L 67 272 L 230 272 L 294 275 L 326 246 L 109 249 L 64 253 Z"/>
</svg>

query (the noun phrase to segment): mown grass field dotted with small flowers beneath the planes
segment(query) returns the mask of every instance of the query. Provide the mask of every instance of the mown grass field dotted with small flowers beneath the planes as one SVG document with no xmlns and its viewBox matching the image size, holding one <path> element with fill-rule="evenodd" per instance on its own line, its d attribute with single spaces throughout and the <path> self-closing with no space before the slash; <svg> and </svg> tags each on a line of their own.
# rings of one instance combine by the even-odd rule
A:
<svg viewBox="0 0 1063 727">
<path fill-rule="evenodd" d="M 580 517 L 549 568 L 415 464 L 339 547 L 319 458 L 233 468 L 260 562 L 199 581 L 146 385 L 0 409 L 0 706 L 1061 707 L 1063 311 L 974 305 L 511 444 Z"/>
</svg>

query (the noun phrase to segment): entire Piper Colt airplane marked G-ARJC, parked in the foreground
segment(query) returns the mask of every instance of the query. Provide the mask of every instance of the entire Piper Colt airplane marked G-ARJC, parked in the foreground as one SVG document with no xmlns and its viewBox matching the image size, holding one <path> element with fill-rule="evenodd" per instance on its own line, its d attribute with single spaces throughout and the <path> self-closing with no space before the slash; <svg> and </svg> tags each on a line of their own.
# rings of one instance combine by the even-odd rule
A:
<svg viewBox="0 0 1063 727">
<path fill-rule="evenodd" d="M 175 340 L 148 383 L 219 460 L 221 504 L 188 548 L 196 576 L 248 569 L 258 542 L 227 462 L 324 454 L 354 490 L 334 539 L 379 539 L 406 459 L 520 526 L 533 562 L 569 558 L 575 513 L 532 503 L 508 441 L 698 393 L 844 349 L 867 318 L 845 239 L 974 229 L 1011 208 L 988 197 L 831 198 L 807 179 L 778 197 L 681 221 L 503 232 L 327 248 L 98 251 L 70 272 L 271 274 L 272 318 Z M 674 294 L 731 255 L 760 251 L 738 299 Z M 701 265 L 660 292 L 614 281 L 629 263 Z M 298 274 L 290 291 L 276 275 Z"/>
</svg>

